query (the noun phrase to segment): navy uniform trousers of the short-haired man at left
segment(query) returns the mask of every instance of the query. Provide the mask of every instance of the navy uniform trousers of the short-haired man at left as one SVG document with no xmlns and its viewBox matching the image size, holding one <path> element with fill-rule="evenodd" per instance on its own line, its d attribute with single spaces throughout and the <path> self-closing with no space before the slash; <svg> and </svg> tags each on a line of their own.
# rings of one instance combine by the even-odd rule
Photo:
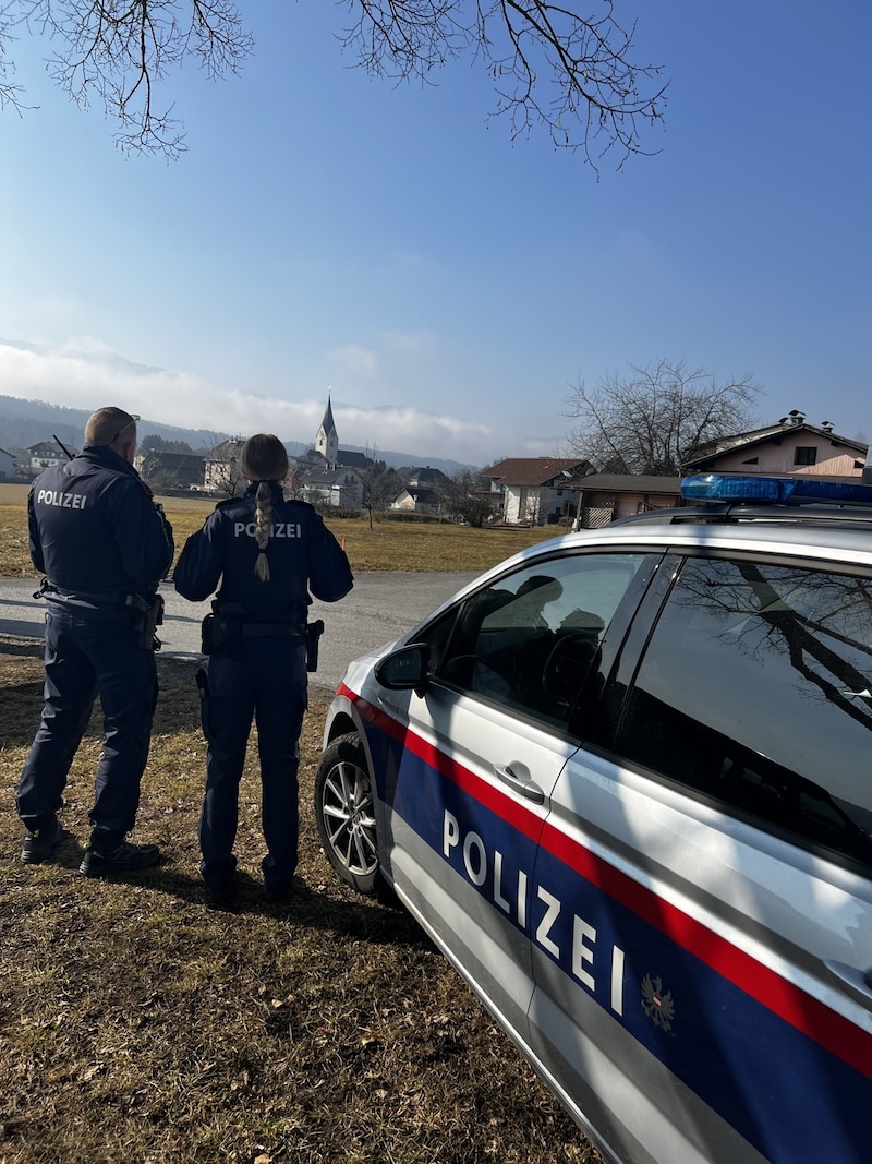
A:
<svg viewBox="0 0 872 1164">
<path fill-rule="evenodd" d="M 63 803 L 95 697 L 103 712 L 91 840 L 110 852 L 136 823 L 157 702 L 151 648 L 136 645 L 130 611 L 51 603 L 45 615 L 42 719 L 24 762 L 16 808 L 26 828 L 45 828 Z"/>
</svg>

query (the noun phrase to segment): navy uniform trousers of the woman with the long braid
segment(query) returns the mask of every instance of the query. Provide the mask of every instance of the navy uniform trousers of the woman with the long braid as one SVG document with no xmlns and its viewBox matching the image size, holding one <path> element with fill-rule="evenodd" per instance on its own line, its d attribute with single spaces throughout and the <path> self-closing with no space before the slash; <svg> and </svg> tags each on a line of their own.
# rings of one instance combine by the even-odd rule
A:
<svg viewBox="0 0 872 1164">
<path fill-rule="evenodd" d="M 262 826 L 267 853 L 264 883 L 280 890 L 296 868 L 300 731 L 307 704 L 302 637 L 243 639 L 242 659 L 209 659 L 202 704 L 208 743 L 206 795 L 200 815 L 200 866 L 206 883 L 223 886 L 233 857 L 240 781 L 252 718 L 260 759 Z"/>
</svg>

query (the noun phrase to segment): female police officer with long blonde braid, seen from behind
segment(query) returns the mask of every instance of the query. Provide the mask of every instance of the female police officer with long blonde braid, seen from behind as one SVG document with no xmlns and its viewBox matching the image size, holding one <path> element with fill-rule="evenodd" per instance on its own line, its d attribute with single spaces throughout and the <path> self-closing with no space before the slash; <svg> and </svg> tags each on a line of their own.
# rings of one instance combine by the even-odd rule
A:
<svg viewBox="0 0 872 1164">
<path fill-rule="evenodd" d="M 242 497 L 221 502 L 192 534 L 176 589 L 202 602 L 221 589 L 203 624 L 208 676 L 198 675 L 208 741 L 200 815 L 200 872 L 215 903 L 233 886 L 238 792 L 252 717 L 262 781 L 264 895 L 283 897 L 296 867 L 299 739 L 307 707 L 306 617 L 312 598 L 337 602 L 353 584 L 348 558 L 305 502 L 285 501 L 285 446 L 245 441 Z M 210 639 L 210 641 L 209 641 Z"/>
</svg>

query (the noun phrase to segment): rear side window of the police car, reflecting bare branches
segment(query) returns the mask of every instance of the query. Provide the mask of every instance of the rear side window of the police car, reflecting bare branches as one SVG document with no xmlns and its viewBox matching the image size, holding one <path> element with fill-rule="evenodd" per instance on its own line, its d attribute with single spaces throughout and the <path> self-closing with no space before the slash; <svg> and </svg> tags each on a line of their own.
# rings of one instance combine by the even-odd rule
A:
<svg viewBox="0 0 872 1164">
<path fill-rule="evenodd" d="M 615 747 L 872 866 L 872 579 L 688 560 Z"/>
</svg>

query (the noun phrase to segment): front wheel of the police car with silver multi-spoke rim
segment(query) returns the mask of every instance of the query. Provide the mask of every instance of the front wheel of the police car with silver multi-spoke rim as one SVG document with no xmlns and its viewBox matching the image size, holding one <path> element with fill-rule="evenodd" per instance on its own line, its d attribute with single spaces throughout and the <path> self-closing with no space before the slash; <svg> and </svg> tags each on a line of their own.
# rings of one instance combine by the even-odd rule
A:
<svg viewBox="0 0 872 1164">
<path fill-rule="evenodd" d="M 315 774 L 315 819 L 327 859 L 358 893 L 379 894 L 372 776 L 357 732 L 326 748 Z"/>
</svg>

